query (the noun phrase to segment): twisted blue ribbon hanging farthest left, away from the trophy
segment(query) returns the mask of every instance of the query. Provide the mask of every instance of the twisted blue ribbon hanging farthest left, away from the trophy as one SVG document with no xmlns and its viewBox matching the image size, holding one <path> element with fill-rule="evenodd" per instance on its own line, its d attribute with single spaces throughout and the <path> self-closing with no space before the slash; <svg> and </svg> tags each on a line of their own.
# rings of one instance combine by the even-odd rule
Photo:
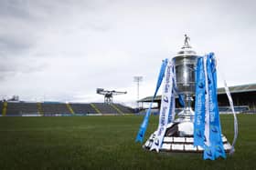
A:
<svg viewBox="0 0 256 170">
<path fill-rule="evenodd" d="M 163 78 L 165 76 L 165 69 L 166 69 L 167 64 L 168 64 L 168 59 L 163 60 L 162 65 L 161 65 L 161 69 L 160 69 L 160 73 L 158 75 L 158 80 L 157 80 L 157 83 L 156 83 L 156 87 L 155 87 L 155 94 L 152 98 L 151 104 L 150 104 L 146 114 L 144 115 L 144 121 L 143 121 L 142 125 L 140 126 L 140 129 L 139 129 L 138 134 L 136 136 L 135 142 L 142 143 L 143 140 L 144 140 L 144 133 L 145 133 L 147 125 L 148 125 L 148 120 L 149 120 L 149 116 L 151 114 L 151 108 L 152 108 L 152 105 L 153 105 L 153 101 L 155 100 L 155 95 L 157 94 L 157 91 L 158 91 L 159 87 L 162 84 Z"/>
</svg>

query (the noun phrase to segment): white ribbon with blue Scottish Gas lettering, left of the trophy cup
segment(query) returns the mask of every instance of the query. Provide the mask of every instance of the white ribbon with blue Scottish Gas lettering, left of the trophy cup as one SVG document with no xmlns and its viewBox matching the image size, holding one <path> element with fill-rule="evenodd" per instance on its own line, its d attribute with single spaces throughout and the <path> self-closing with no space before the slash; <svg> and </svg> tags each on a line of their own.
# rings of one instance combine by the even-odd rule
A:
<svg viewBox="0 0 256 170">
<path fill-rule="evenodd" d="M 155 133 L 155 139 L 150 147 L 150 150 L 156 150 L 159 152 L 159 148 L 163 143 L 167 124 L 173 120 L 173 106 L 174 106 L 174 91 L 173 91 L 173 80 L 174 80 L 174 65 L 173 61 L 169 61 L 165 70 L 165 79 L 163 84 L 163 94 L 161 101 L 161 108 L 159 114 L 159 124 Z"/>
</svg>

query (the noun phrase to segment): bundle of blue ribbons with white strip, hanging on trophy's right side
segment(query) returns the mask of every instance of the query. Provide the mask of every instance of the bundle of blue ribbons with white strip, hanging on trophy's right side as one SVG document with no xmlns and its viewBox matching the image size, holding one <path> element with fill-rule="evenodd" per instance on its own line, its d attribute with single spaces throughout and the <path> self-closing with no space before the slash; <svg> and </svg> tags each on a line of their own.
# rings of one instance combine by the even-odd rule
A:
<svg viewBox="0 0 256 170">
<path fill-rule="evenodd" d="M 194 145 L 202 146 L 204 159 L 211 160 L 226 157 L 221 138 L 215 61 L 213 53 L 197 60 L 194 122 Z"/>
</svg>

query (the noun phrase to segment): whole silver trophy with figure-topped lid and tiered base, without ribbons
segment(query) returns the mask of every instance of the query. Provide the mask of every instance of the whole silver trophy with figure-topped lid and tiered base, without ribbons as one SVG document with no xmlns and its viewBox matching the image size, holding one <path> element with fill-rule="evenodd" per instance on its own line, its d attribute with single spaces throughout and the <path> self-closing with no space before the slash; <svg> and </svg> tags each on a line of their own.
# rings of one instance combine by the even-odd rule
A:
<svg viewBox="0 0 256 170">
<path fill-rule="evenodd" d="M 184 103 L 182 111 L 177 114 L 175 121 L 167 126 L 163 145 L 164 152 L 202 152 L 203 148 L 194 146 L 194 116 L 192 108 L 193 96 L 196 92 L 197 53 L 189 45 L 190 38 L 185 35 L 184 45 L 173 58 L 175 65 L 176 92 Z M 145 142 L 144 148 L 150 149 L 155 139 L 153 133 Z M 224 149 L 231 149 L 227 138 L 222 135 Z"/>
</svg>

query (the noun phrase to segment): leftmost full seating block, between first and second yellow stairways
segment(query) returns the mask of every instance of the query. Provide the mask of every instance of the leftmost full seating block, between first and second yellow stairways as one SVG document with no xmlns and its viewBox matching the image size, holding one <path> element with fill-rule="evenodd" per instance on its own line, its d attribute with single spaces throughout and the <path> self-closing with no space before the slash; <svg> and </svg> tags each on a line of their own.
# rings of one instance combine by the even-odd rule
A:
<svg viewBox="0 0 256 170">
<path fill-rule="evenodd" d="M 6 115 L 39 115 L 36 103 L 7 102 Z"/>
</svg>

